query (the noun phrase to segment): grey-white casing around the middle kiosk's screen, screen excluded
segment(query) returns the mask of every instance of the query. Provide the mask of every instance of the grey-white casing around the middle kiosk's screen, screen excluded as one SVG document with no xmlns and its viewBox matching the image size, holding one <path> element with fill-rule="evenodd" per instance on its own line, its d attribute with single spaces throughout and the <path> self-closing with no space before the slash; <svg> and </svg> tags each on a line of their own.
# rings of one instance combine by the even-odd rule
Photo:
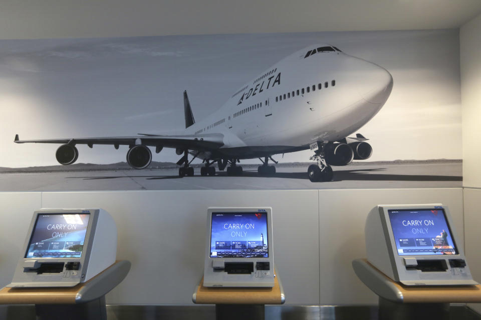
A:
<svg viewBox="0 0 481 320">
<path fill-rule="evenodd" d="M 211 257 L 212 214 L 262 213 L 267 216 L 268 257 Z M 224 239 L 226 240 L 226 239 Z M 274 254 L 271 207 L 209 207 L 207 210 L 204 286 L 273 287 Z M 227 270 L 231 268 L 231 270 Z M 250 269 L 252 268 L 252 272 Z"/>
</svg>

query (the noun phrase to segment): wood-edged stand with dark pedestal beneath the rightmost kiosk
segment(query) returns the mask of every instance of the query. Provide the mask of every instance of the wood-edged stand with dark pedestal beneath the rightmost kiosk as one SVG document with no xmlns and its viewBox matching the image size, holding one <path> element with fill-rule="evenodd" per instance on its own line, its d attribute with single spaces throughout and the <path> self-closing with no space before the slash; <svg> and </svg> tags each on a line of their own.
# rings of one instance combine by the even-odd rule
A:
<svg viewBox="0 0 481 320">
<path fill-rule="evenodd" d="M 355 259 L 356 275 L 379 295 L 379 319 L 443 320 L 449 303 L 481 302 L 481 285 L 406 286 L 393 281 L 367 259 Z"/>
</svg>

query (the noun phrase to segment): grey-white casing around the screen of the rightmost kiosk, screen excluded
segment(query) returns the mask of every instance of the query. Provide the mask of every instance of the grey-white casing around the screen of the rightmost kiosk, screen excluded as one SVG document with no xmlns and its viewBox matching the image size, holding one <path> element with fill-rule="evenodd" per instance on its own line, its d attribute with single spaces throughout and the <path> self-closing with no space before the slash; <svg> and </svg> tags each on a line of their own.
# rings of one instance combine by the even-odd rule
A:
<svg viewBox="0 0 481 320">
<path fill-rule="evenodd" d="M 389 211 L 441 210 L 453 241 L 449 254 L 399 254 Z M 398 204 L 375 206 L 368 214 L 365 226 L 368 261 L 395 281 L 405 285 L 471 285 L 471 277 L 461 247 L 456 245 L 456 233 L 449 209 L 441 203 Z"/>
</svg>

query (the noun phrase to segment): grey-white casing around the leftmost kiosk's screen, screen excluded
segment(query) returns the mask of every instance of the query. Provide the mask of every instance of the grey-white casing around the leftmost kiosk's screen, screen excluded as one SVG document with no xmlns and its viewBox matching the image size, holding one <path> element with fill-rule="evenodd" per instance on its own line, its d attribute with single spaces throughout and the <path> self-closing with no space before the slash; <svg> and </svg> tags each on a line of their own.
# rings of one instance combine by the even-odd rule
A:
<svg viewBox="0 0 481 320">
<path fill-rule="evenodd" d="M 80 257 L 31 257 L 28 255 L 40 215 L 88 214 Z M 97 275 L 115 262 L 117 227 L 112 216 L 97 209 L 42 208 L 34 212 L 22 256 L 8 287 L 74 286 Z M 45 254 L 47 255 L 47 254 Z"/>
</svg>

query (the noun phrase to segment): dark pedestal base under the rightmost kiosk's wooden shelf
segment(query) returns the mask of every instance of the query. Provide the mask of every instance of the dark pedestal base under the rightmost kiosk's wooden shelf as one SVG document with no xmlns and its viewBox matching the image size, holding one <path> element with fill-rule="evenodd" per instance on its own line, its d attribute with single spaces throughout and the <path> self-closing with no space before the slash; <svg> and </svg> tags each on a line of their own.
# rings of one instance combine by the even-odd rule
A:
<svg viewBox="0 0 481 320">
<path fill-rule="evenodd" d="M 379 320 L 448 320 L 449 303 L 401 303 L 379 297 Z"/>
</svg>

